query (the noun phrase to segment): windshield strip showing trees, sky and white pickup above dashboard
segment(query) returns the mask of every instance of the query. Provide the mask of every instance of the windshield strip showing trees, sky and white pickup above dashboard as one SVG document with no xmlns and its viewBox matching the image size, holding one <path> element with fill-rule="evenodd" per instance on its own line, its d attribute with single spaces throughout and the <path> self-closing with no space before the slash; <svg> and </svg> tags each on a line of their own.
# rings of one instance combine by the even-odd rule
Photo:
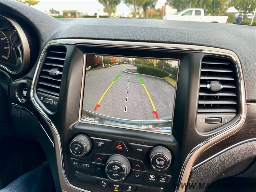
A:
<svg viewBox="0 0 256 192">
<path fill-rule="evenodd" d="M 255 0 L 17 0 L 57 19 L 131 18 L 256 26 Z M 189 9 L 189 14 L 182 14 Z M 202 9 L 202 14 L 196 10 Z M 178 14 L 175 17 L 172 15 Z M 198 17 L 198 15 L 201 15 Z M 184 17 L 186 16 L 186 17 Z"/>
</svg>

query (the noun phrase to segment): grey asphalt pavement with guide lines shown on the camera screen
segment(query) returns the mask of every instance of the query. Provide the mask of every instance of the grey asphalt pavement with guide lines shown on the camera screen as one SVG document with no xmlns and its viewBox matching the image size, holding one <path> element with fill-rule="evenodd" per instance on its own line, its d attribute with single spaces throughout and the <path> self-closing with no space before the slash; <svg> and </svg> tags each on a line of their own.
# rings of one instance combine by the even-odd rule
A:
<svg viewBox="0 0 256 192">
<path fill-rule="evenodd" d="M 136 74 L 123 72 L 132 68 L 136 67 L 117 65 L 87 72 L 83 109 L 130 120 L 172 119 L 175 89 L 149 76 L 140 76 L 142 85 Z"/>
</svg>

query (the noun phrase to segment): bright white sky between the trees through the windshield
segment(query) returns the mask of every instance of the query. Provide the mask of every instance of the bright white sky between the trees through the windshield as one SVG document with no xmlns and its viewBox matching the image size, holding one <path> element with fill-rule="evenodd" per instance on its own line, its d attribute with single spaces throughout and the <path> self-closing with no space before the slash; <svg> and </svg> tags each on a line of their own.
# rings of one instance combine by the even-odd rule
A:
<svg viewBox="0 0 256 192">
<path fill-rule="evenodd" d="M 166 0 L 158 0 L 156 4 L 156 9 L 161 8 Z M 63 10 L 76 10 L 78 12 L 83 12 L 88 15 L 94 15 L 99 9 L 99 15 L 106 15 L 103 12 L 103 5 L 97 2 L 97 0 L 39 0 L 39 4 L 34 5 L 34 8 L 44 12 L 49 11 L 51 8 L 60 11 Z M 130 9 L 121 2 L 116 8 L 116 15 L 128 15 Z"/>
</svg>

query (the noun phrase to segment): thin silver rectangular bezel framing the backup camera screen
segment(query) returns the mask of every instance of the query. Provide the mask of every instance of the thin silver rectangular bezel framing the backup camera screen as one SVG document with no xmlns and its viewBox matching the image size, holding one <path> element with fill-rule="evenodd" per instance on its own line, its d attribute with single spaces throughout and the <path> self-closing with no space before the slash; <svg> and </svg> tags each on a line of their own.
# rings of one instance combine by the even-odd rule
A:
<svg viewBox="0 0 256 192">
<path fill-rule="evenodd" d="M 95 122 L 89 122 L 89 121 L 82 120 L 83 100 L 84 100 L 84 87 L 85 87 L 85 78 L 86 78 L 85 74 L 86 74 L 87 55 L 99 55 L 99 56 L 109 56 L 109 57 L 125 57 L 125 58 L 138 58 L 138 59 L 154 59 L 154 60 L 175 60 L 175 61 L 178 61 L 176 85 L 175 85 L 174 99 L 173 99 L 173 108 L 172 108 L 171 132 L 170 133 L 169 132 L 160 132 L 160 131 L 154 131 L 154 130 L 133 128 L 133 127 L 127 127 L 127 126 L 113 125 L 113 124 L 95 123 Z M 176 100 L 176 92 L 177 92 L 179 69 L 180 69 L 180 60 L 179 59 L 159 58 L 159 57 L 138 57 L 138 56 L 131 56 L 131 55 L 130 56 L 126 56 L 126 55 L 101 54 L 101 53 L 90 53 L 90 52 L 84 53 L 83 76 L 82 76 L 82 87 L 81 87 L 81 97 L 80 97 L 80 107 L 79 107 L 78 122 L 79 123 L 84 123 L 84 124 L 103 125 L 103 126 L 108 126 L 108 127 L 116 127 L 116 128 L 122 128 L 122 129 L 130 129 L 130 130 L 136 130 L 136 131 L 152 132 L 152 133 L 158 133 L 158 134 L 171 135 L 172 134 L 172 130 L 173 130 L 173 117 L 174 117 L 174 109 L 175 109 L 175 100 Z"/>
</svg>

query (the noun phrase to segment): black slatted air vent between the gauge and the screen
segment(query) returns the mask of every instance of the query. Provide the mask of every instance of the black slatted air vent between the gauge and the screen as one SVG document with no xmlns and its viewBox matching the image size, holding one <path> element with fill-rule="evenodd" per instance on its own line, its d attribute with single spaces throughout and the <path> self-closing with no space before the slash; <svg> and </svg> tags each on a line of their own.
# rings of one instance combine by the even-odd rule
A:
<svg viewBox="0 0 256 192">
<path fill-rule="evenodd" d="M 67 49 L 65 46 L 51 46 L 47 51 L 36 90 L 59 97 L 61 77 Z"/>
</svg>

